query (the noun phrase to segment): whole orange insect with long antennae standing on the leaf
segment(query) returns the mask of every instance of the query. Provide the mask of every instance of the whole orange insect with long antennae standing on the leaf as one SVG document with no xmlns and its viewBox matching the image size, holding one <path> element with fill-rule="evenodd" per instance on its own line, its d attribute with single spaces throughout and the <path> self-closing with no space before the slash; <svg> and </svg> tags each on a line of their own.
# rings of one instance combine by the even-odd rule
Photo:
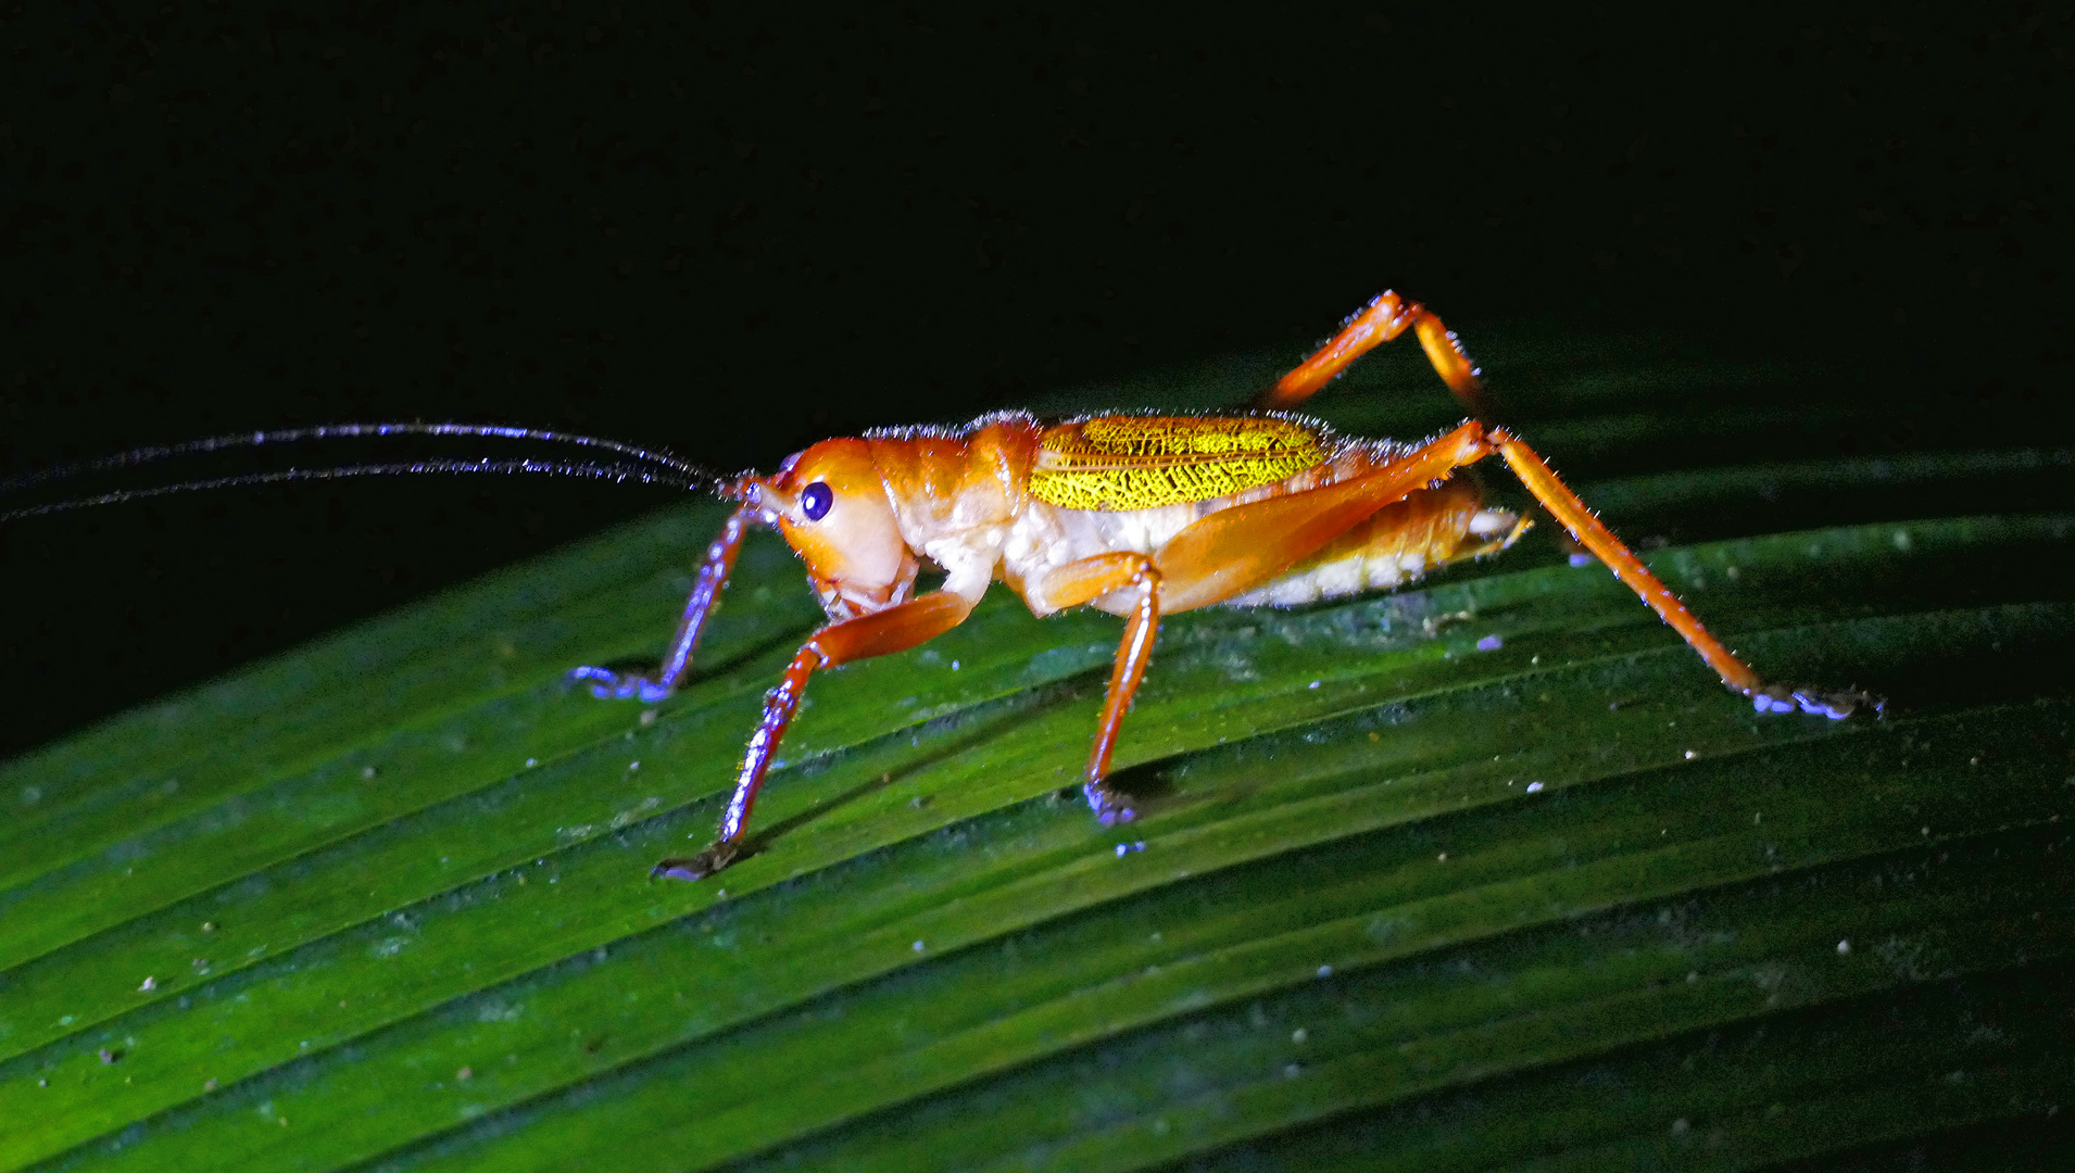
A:
<svg viewBox="0 0 2075 1173">
<path fill-rule="evenodd" d="M 1405 330 L 1419 338 L 1434 370 L 1471 409 L 1471 419 L 1442 436 L 1403 444 L 1336 436 L 1286 411 Z M 664 453 L 587 436 L 473 424 L 349 424 L 147 448 L 85 467 L 232 444 L 369 434 L 550 440 L 604 451 L 608 459 L 421 461 L 255 473 L 19 509 L 0 519 L 216 484 L 388 471 L 546 471 L 685 488 L 710 484 L 739 504 L 706 548 L 658 671 L 649 677 L 593 666 L 571 673 L 600 698 L 662 700 L 691 675 L 699 635 L 751 525 L 778 529 L 807 563 L 828 625 L 807 637 L 778 687 L 766 693 L 714 843 L 697 855 L 664 860 L 652 872 L 685 880 L 712 876 L 745 853 L 749 812 L 815 671 L 925 644 L 963 623 L 994 581 L 1040 617 L 1085 604 L 1125 619 L 1083 793 L 1102 822 L 1133 818 L 1129 801 L 1108 787 L 1110 754 L 1145 677 L 1160 617 L 1212 604 L 1276 606 L 1384 590 L 1446 563 L 1504 550 L 1529 521 L 1488 509 L 1473 480 L 1455 478 L 1486 457 L 1502 459 L 1585 550 L 1760 712 L 1843 718 L 1880 708 L 1876 698 L 1857 691 L 1766 683 L 1702 627 L 1542 457 L 1479 415 L 1477 370 L 1457 336 L 1419 303 L 1384 293 L 1264 390 L 1251 411 L 1230 415 L 1087 415 L 1048 424 L 1027 413 L 998 413 L 952 430 L 903 428 L 824 440 L 789 457 L 772 475 L 726 480 Z M 48 475 L 29 478 L 42 480 Z M 925 563 L 944 573 L 944 583 L 915 596 Z"/>
</svg>

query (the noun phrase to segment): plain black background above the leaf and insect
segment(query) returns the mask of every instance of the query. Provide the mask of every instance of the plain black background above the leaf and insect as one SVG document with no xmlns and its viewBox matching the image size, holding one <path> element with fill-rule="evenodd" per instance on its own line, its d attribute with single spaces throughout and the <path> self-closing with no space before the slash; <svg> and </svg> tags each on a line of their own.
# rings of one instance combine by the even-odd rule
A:
<svg viewBox="0 0 2075 1173">
<path fill-rule="evenodd" d="M 2013 430 L 2069 392 L 2067 8 L 309 8 L 4 10 L 0 475 L 378 417 L 770 465 L 1386 284 L 1471 338 L 1878 359 Z M 0 523 L 0 754 L 660 500 Z"/>
</svg>

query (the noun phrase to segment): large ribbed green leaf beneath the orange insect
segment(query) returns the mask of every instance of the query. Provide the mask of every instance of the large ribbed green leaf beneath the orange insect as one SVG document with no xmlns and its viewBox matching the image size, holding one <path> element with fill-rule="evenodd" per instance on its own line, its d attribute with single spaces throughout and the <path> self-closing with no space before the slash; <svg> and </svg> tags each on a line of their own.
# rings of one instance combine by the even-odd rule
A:
<svg viewBox="0 0 2075 1173">
<path fill-rule="evenodd" d="M 695 504 L 0 768 L 0 1167 L 1764 1167 L 2046 1144 L 2075 1088 L 2067 448 L 1666 343 L 1482 338 L 1519 430 L 1762 671 L 1762 716 L 1544 525 L 1421 590 L 1162 627 L 1073 793 L 1118 623 L 996 592 L 818 677 L 743 554 L 654 656 Z M 1453 405 L 1417 353 L 1320 399 Z M 1233 403 L 1274 359 L 1044 405 Z M 1843 386 L 1843 388 L 1841 388 Z M 1838 436 L 1928 436 L 1851 448 Z M 1519 500 L 1500 473 L 1492 492 Z M 1668 542 L 1650 542 L 1664 538 Z M 1901 1146 L 1901 1148 L 1897 1148 Z"/>
</svg>

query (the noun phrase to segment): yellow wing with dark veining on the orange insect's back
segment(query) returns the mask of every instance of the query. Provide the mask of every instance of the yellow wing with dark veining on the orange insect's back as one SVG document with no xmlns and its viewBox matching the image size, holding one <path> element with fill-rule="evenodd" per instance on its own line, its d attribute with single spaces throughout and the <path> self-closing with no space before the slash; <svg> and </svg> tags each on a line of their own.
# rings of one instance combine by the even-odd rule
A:
<svg viewBox="0 0 2075 1173">
<path fill-rule="evenodd" d="M 1158 509 L 1274 484 L 1326 455 L 1295 419 L 1098 415 L 1044 434 L 1031 494 L 1060 509 Z"/>
</svg>

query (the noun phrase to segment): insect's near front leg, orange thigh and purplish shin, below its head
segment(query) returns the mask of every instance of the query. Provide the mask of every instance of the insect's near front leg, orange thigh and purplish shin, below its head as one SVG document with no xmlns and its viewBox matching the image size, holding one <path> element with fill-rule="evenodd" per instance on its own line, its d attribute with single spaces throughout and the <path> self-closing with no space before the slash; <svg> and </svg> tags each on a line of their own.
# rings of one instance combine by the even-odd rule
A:
<svg viewBox="0 0 2075 1173">
<path fill-rule="evenodd" d="M 735 793 L 728 797 L 728 810 L 720 816 L 720 835 L 706 851 L 689 860 L 664 860 L 649 874 L 699 880 L 726 868 L 743 853 L 749 808 L 755 806 L 757 791 L 764 789 L 764 776 L 778 754 L 778 741 L 784 737 L 786 727 L 793 725 L 801 695 L 807 693 L 807 677 L 815 669 L 834 669 L 851 660 L 905 652 L 965 623 L 965 617 L 971 612 L 973 600 L 963 594 L 936 592 L 815 631 L 801 646 L 799 654 L 793 656 L 778 687 L 764 693 L 764 716 L 757 720 L 757 731 L 749 735 L 749 747 L 743 749 L 743 766 L 735 776 Z"/>
</svg>

